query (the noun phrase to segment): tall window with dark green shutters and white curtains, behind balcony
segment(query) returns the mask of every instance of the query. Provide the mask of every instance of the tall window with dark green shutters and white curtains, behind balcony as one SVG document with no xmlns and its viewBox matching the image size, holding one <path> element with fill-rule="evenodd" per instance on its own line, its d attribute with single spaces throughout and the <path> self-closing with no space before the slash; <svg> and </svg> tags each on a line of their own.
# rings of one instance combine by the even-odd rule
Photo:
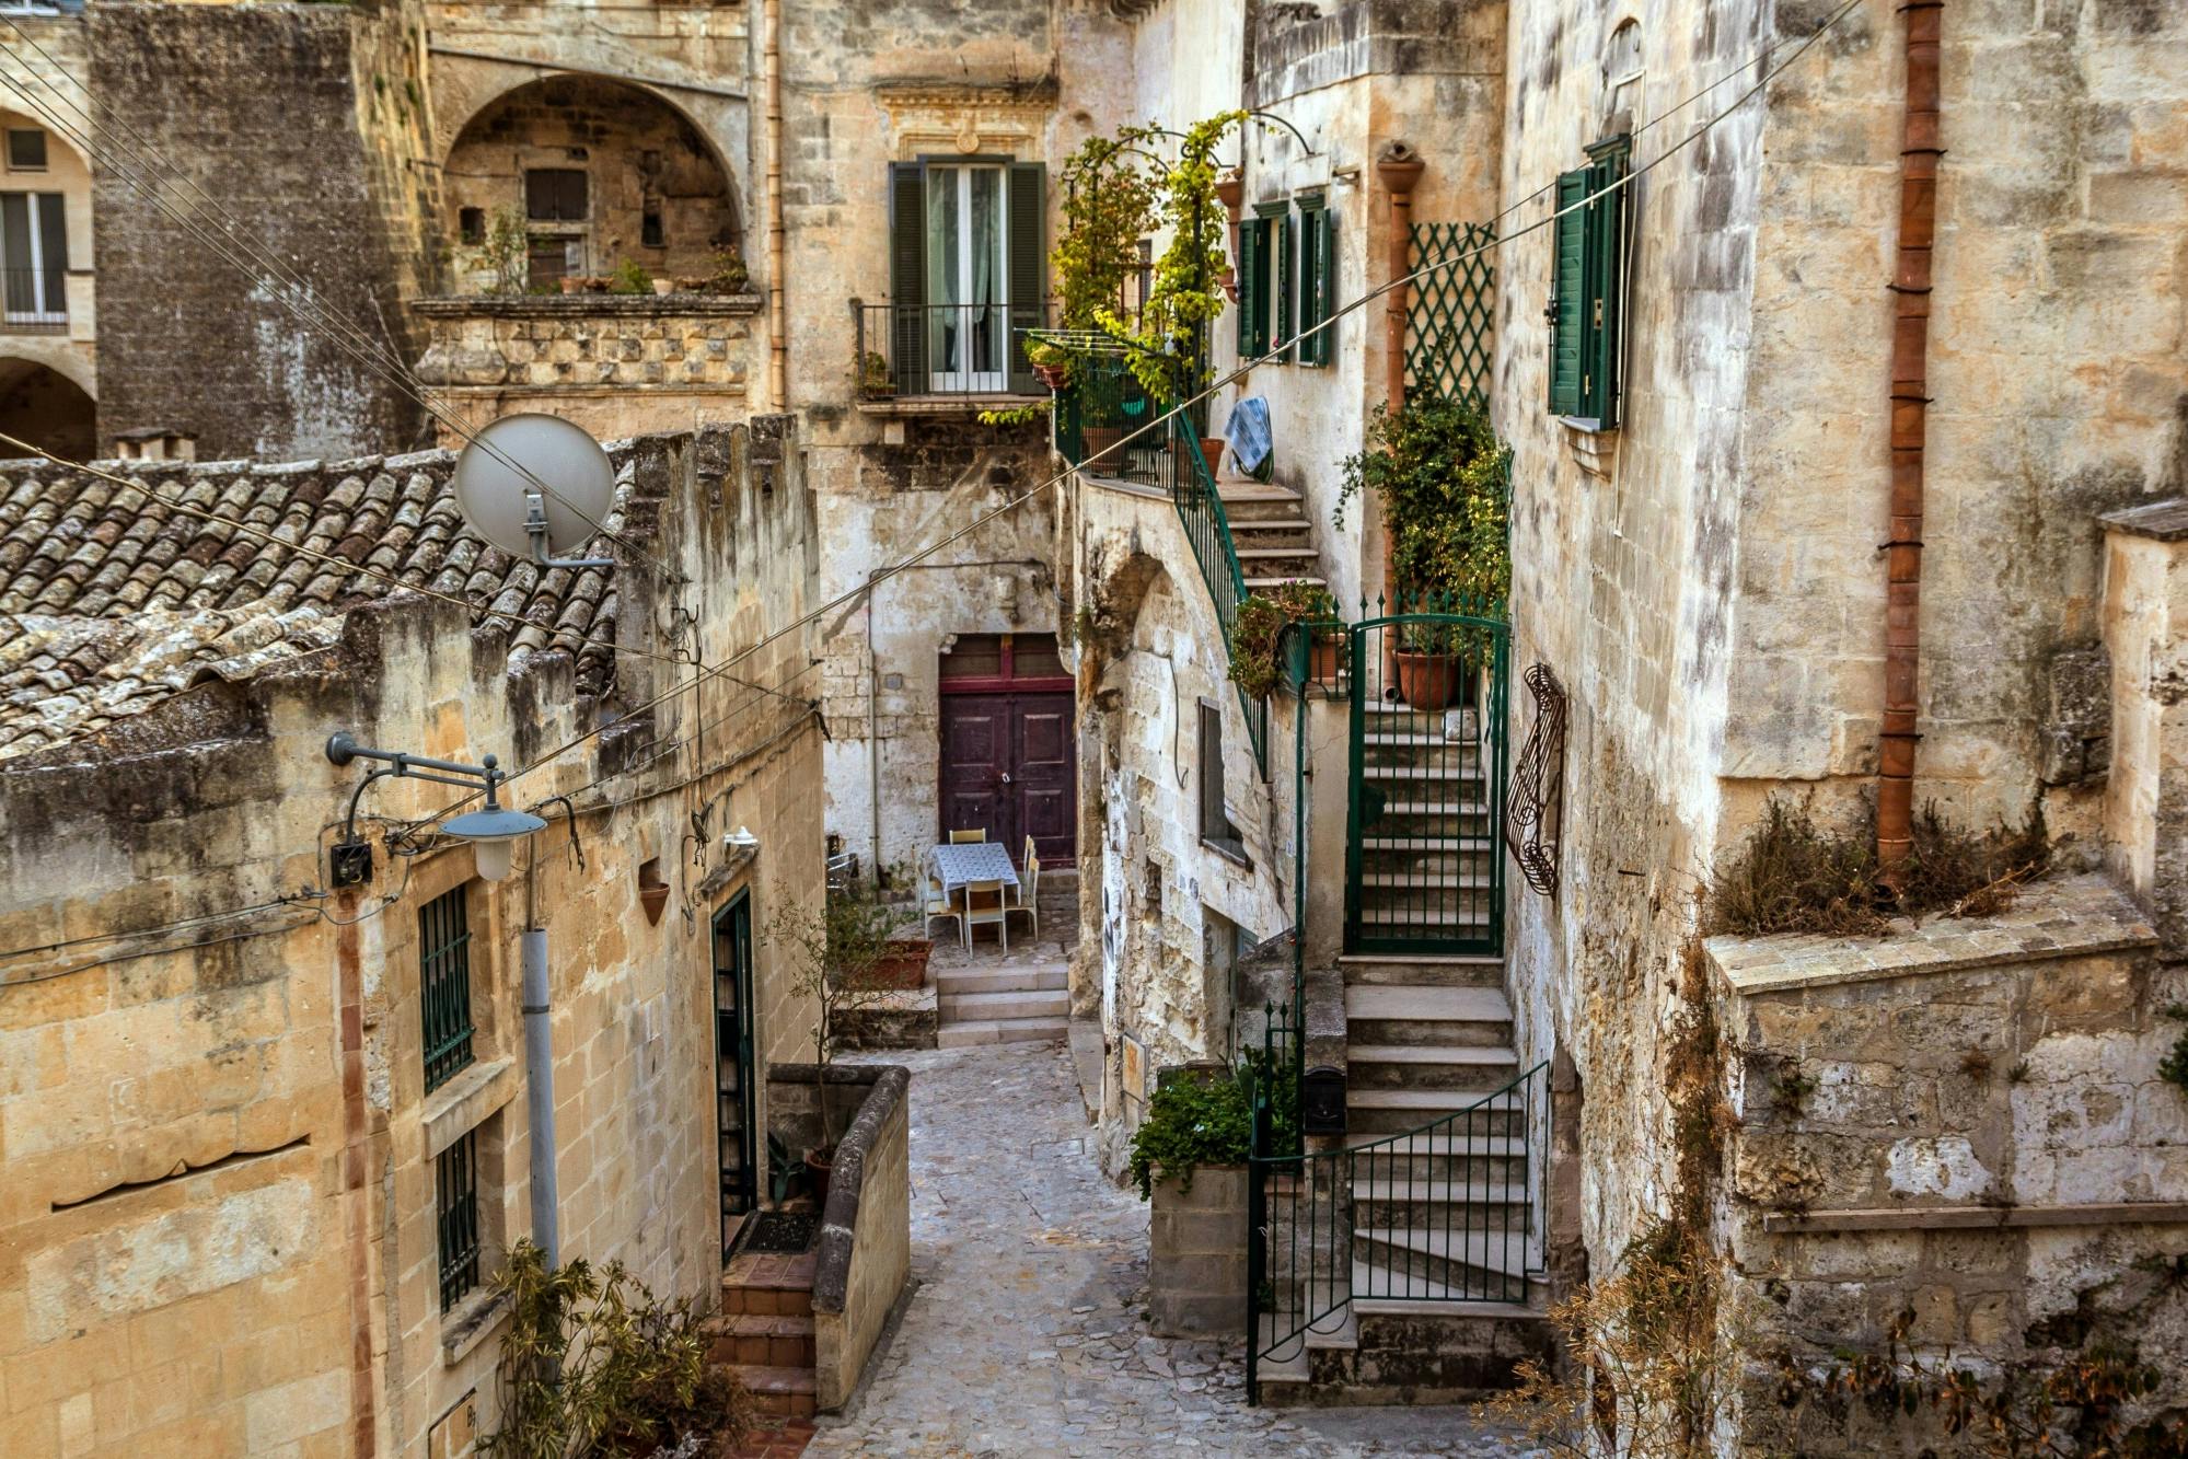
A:
<svg viewBox="0 0 2188 1459">
<path fill-rule="evenodd" d="M 1026 330 L 1046 319 L 1046 221 L 1039 162 L 888 164 L 888 363 L 899 394 L 1046 394 L 1026 359 Z"/>
</svg>

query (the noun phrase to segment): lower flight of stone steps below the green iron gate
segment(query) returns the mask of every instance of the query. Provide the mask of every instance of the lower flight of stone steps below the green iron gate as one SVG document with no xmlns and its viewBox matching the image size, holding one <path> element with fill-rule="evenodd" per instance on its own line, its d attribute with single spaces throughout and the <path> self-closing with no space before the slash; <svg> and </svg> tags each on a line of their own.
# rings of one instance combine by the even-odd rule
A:
<svg viewBox="0 0 2188 1459">
<path fill-rule="evenodd" d="M 1306 1332 L 1262 1321 L 1260 1396 L 1481 1398 L 1514 1382 L 1518 1358 L 1553 1345 L 1534 1273 L 1543 1225 L 1529 1175 L 1540 1172 L 1527 1168 L 1521 1096 L 1505 1092 L 1521 1070 L 1503 960 L 1348 956 L 1341 973 L 1350 1153 L 1308 1162 L 1308 1181 L 1326 1190 L 1280 1190 L 1269 1205 L 1273 1267 L 1302 1238 L 1341 1258 L 1291 1273 L 1317 1315 Z M 1407 1133 L 1446 1116 L 1457 1118 Z"/>
</svg>

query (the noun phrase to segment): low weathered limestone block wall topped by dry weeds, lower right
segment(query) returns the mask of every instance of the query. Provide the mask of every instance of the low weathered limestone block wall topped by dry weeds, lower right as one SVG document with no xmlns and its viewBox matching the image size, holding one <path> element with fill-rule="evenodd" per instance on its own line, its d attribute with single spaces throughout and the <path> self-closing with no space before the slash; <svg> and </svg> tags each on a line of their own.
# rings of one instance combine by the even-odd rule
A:
<svg viewBox="0 0 2188 1459">
<path fill-rule="evenodd" d="M 1729 1216 L 1748 1315 L 1801 1363 L 2059 1361 L 2135 1341 L 2181 1402 L 2188 1094 L 2157 1074 L 2188 978 L 2100 877 L 1882 941 L 1713 938 Z M 1853 1411 L 1750 1402 L 1750 1442 L 1899 1452 Z M 1890 1431 L 1899 1433 L 1899 1431 Z"/>
</svg>

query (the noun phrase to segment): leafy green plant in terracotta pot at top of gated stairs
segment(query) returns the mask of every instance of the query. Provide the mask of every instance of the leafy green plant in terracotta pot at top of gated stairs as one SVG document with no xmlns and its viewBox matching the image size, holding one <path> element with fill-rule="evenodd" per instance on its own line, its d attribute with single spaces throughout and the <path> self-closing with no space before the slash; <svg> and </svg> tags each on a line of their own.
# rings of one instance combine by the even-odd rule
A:
<svg viewBox="0 0 2188 1459">
<path fill-rule="evenodd" d="M 1470 685 L 1512 591 L 1512 448 L 1468 398 L 1418 396 L 1381 409 L 1368 448 L 1343 466 L 1335 518 L 1361 488 L 1383 503 L 1389 532 L 1392 599 L 1422 612 L 1405 623 L 1398 693 L 1413 709 L 1448 709 Z"/>
</svg>

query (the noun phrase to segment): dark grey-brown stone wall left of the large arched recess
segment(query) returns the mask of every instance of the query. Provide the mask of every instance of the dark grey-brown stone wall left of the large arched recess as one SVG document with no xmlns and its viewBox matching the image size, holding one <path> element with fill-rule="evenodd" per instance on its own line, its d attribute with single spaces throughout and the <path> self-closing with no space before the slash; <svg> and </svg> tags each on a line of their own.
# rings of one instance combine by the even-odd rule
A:
<svg viewBox="0 0 2188 1459">
<path fill-rule="evenodd" d="M 409 166 L 429 118 L 409 11 L 116 4 L 85 24 L 98 122 L 158 138 L 322 311 L 416 359 L 398 295 L 431 258 L 416 192 L 429 173 Z M 103 437 L 173 427 L 197 435 L 199 457 L 274 459 L 418 442 L 416 402 L 302 328 L 265 265 L 238 271 L 112 171 L 94 203 Z"/>
</svg>

